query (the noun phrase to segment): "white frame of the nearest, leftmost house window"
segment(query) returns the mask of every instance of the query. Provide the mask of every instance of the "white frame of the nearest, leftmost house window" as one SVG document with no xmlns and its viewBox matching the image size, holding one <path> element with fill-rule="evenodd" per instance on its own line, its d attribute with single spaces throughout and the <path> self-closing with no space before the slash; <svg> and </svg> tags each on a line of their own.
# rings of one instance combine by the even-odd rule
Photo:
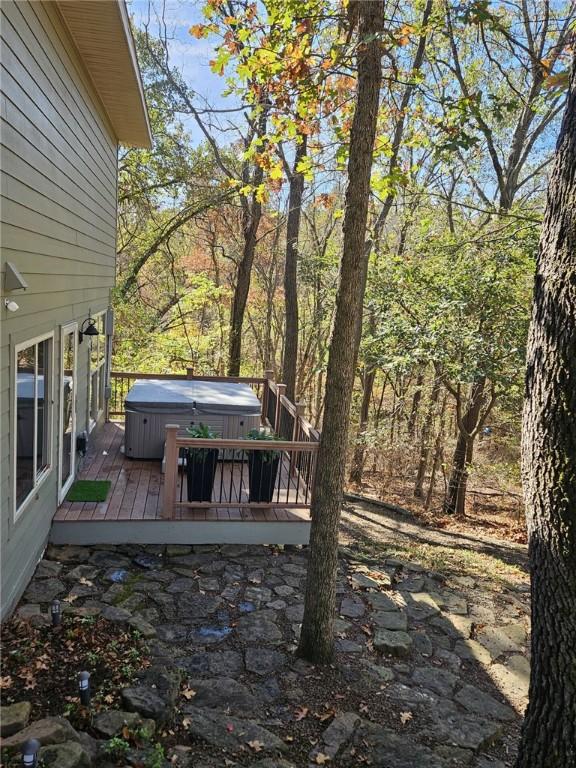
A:
<svg viewBox="0 0 576 768">
<path fill-rule="evenodd" d="M 34 447 L 33 447 L 33 485 L 28 495 L 18 505 L 17 500 L 17 466 L 18 466 L 18 354 L 23 349 L 34 347 L 43 341 L 50 341 L 48 349 L 48 375 L 44 374 L 44 402 L 45 407 L 48 407 L 47 418 L 47 465 L 44 469 L 37 473 L 36 461 L 37 461 L 37 445 L 38 445 L 38 355 L 35 355 L 35 371 L 34 371 Z M 40 336 L 35 336 L 26 341 L 14 344 L 12 360 L 14 364 L 14 370 L 12 375 L 13 395 L 11 398 L 11 406 L 13 410 L 12 414 L 12 509 L 13 519 L 17 522 L 21 515 L 24 513 L 30 501 L 34 498 L 40 486 L 44 483 L 46 478 L 50 475 L 54 469 L 54 331 L 43 333 Z"/>
</svg>

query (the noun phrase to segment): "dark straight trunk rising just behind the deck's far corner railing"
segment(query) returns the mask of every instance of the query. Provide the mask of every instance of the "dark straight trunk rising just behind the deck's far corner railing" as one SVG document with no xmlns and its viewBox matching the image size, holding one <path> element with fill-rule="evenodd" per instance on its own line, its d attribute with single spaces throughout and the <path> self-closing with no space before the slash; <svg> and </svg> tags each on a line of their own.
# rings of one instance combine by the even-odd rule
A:
<svg viewBox="0 0 576 768">
<path fill-rule="evenodd" d="M 302 218 L 304 174 L 298 172 L 299 162 L 306 157 L 308 138 L 296 146 L 294 168 L 290 177 L 288 195 L 288 219 L 286 221 L 286 261 L 284 263 L 284 313 L 286 317 L 284 337 L 284 362 L 282 381 L 286 384 L 286 397 L 296 400 L 296 371 L 298 368 L 298 237 Z"/>
</svg>

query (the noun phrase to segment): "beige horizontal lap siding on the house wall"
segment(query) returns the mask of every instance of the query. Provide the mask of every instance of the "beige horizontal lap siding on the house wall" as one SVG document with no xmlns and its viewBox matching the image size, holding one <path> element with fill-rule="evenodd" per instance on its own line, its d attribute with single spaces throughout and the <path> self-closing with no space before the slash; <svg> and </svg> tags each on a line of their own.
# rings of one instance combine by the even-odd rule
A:
<svg viewBox="0 0 576 768">
<path fill-rule="evenodd" d="M 28 283 L 0 307 L 2 615 L 30 578 L 58 495 L 60 328 L 110 303 L 115 273 L 117 142 L 67 29 L 51 3 L 3 0 L 1 259 Z M 52 463 L 14 519 L 14 347 L 54 333 Z M 78 347 L 77 430 L 88 426 L 90 347 Z"/>
</svg>

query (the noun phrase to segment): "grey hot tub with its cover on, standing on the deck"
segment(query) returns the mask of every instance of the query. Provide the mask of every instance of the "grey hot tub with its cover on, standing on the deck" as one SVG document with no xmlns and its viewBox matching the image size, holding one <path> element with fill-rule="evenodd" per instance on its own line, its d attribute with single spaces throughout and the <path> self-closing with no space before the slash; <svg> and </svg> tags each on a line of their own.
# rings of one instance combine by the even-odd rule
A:
<svg viewBox="0 0 576 768">
<path fill-rule="evenodd" d="M 166 424 L 206 424 L 219 437 L 244 437 L 260 426 L 261 404 L 248 384 L 141 379 L 124 401 L 124 451 L 133 459 L 162 459 Z"/>
</svg>

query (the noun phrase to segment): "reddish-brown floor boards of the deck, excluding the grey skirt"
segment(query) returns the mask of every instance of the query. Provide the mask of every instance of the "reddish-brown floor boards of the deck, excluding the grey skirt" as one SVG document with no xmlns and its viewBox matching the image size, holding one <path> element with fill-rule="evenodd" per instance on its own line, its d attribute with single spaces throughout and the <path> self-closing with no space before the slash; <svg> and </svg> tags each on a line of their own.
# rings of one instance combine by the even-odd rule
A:
<svg viewBox="0 0 576 768">
<path fill-rule="evenodd" d="M 108 498 L 104 502 L 67 502 L 58 508 L 57 522 L 110 522 L 160 520 L 164 476 L 160 461 L 128 459 L 124 456 L 124 425 L 109 422 L 93 434 L 90 447 L 78 474 L 81 480 L 110 480 Z M 303 481 L 290 471 L 289 461 L 283 461 L 274 502 L 278 496 L 286 502 L 308 500 L 309 491 Z M 222 489 L 222 492 L 221 492 Z M 219 462 L 214 492 L 222 502 L 239 501 L 238 507 L 190 508 L 177 506 L 175 520 L 221 522 L 303 522 L 309 521 L 309 509 L 250 509 L 248 503 L 248 464 L 241 461 Z M 306 494 L 308 493 L 308 496 Z M 187 498 L 186 473 L 178 478 L 177 498 Z"/>
</svg>

